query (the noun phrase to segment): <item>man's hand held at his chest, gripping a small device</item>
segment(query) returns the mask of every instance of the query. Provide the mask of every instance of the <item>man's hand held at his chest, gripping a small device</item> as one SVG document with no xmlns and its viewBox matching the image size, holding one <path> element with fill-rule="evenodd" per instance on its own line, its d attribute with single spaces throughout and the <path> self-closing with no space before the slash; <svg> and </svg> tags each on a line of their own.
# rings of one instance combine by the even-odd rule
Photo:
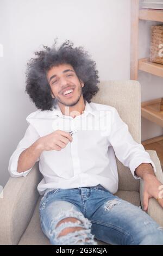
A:
<svg viewBox="0 0 163 256">
<path fill-rule="evenodd" d="M 40 148 L 43 150 L 57 150 L 64 149 L 68 142 L 72 142 L 72 136 L 69 132 L 57 130 L 46 136 L 39 138 Z"/>
</svg>

